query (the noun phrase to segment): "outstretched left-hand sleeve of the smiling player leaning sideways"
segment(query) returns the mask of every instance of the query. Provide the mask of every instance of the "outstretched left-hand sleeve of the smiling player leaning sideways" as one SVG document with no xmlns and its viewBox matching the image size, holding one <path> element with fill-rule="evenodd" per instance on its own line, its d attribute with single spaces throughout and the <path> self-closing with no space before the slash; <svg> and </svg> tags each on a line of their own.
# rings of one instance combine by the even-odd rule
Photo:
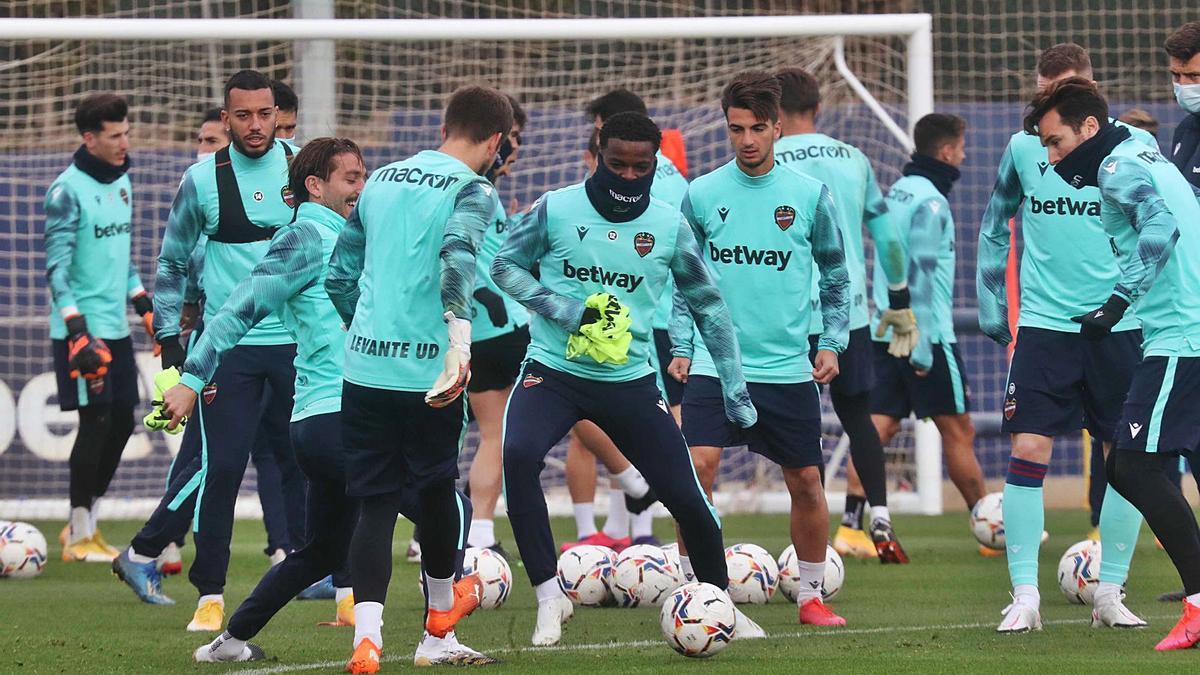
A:
<svg viewBox="0 0 1200 675">
<path fill-rule="evenodd" d="M 320 234 L 311 225 L 296 225 L 276 235 L 250 276 L 234 287 L 224 305 L 205 324 L 187 353 L 181 382 L 200 393 L 212 380 L 226 352 L 254 324 L 316 283 L 324 264 Z"/>
</svg>

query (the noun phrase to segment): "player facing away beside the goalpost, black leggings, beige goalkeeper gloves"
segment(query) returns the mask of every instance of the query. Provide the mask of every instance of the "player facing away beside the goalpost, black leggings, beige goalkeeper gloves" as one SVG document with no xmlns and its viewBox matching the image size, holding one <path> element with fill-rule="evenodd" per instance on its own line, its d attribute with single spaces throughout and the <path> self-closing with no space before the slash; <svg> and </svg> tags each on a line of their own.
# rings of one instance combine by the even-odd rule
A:
<svg viewBox="0 0 1200 675">
<path fill-rule="evenodd" d="M 851 471 L 862 479 L 858 491 L 846 491 L 846 508 L 834 537 L 840 554 L 859 557 L 878 556 L 883 563 L 906 563 L 908 556 L 896 540 L 888 512 L 887 474 L 883 444 L 871 424 L 871 335 L 868 329 L 866 258 L 863 249 L 863 223 L 866 223 L 876 249 L 876 299 L 881 285 L 888 293 L 881 307 L 887 307 L 883 322 L 895 324 L 895 333 L 908 338 L 914 325 L 905 279 L 905 257 L 896 226 L 875 180 L 870 160 L 858 148 L 817 132 L 821 85 L 803 68 L 784 68 L 775 73 L 782 90 L 780 124 L 782 137 L 775 142 L 775 162 L 799 171 L 823 183 L 833 196 L 846 245 L 846 271 L 850 274 L 850 344 L 838 357 L 838 377 L 829 383 L 829 400 L 850 436 Z M 817 299 L 817 280 L 812 280 L 812 317 L 809 327 L 810 357 L 816 358 L 817 344 L 824 330 Z M 878 303 L 878 300 L 877 300 Z M 899 323 L 896 323 L 899 322 Z M 902 354 L 907 356 L 907 354 Z M 851 471 L 847 471 L 850 473 Z M 865 488 L 865 494 L 863 489 Z M 870 502 L 870 536 L 864 532 L 864 506 Z"/>
</svg>

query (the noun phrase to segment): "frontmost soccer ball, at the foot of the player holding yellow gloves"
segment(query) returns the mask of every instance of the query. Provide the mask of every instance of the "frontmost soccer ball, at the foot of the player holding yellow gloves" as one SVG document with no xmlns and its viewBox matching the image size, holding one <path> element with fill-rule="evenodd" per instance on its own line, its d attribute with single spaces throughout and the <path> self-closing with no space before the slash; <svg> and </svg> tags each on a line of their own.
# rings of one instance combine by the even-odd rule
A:
<svg viewBox="0 0 1200 675">
<path fill-rule="evenodd" d="M 662 604 L 662 637 L 674 651 L 708 658 L 730 645 L 737 615 L 725 591 L 700 581 L 684 584 Z"/>
</svg>

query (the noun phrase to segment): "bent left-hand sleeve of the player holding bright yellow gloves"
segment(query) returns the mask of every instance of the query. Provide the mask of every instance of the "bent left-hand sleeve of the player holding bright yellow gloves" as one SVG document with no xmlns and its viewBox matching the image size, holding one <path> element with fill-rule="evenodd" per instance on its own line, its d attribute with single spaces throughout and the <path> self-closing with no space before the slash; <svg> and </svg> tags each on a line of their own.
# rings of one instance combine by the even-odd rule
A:
<svg viewBox="0 0 1200 675">
<path fill-rule="evenodd" d="M 530 271 L 550 252 L 546 198 L 512 228 L 492 261 L 492 281 L 529 311 L 552 321 L 568 333 L 580 329 L 583 303 L 546 288 Z"/>
</svg>

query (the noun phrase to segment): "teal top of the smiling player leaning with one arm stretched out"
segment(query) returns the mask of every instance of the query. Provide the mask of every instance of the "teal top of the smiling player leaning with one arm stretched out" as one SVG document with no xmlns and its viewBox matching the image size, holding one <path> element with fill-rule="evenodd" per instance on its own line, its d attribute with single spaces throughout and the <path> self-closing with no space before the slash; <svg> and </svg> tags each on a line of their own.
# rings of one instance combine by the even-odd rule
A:
<svg viewBox="0 0 1200 675">
<path fill-rule="evenodd" d="M 197 394 L 226 352 L 268 316 L 277 315 L 296 342 L 292 422 L 342 410 L 346 331 L 325 293 L 325 271 L 346 220 L 305 202 L 296 221 L 271 239 L 263 259 L 229 293 L 188 351 L 181 382 Z"/>
</svg>

